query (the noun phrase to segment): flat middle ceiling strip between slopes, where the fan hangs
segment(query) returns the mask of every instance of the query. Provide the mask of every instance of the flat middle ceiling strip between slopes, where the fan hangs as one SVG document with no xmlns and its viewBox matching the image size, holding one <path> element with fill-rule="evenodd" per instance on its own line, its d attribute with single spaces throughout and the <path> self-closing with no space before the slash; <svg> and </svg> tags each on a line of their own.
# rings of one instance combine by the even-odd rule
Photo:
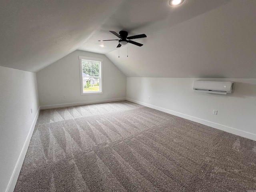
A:
<svg viewBox="0 0 256 192">
<path fill-rule="evenodd" d="M 117 41 L 98 42 L 98 40 L 117 39 L 109 32 L 110 30 L 117 33 L 126 30 L 128 36 L 145 33 L 148 36 L 147 40 L 154 41 L 155 36 L 161 36 L 163 27 L 174 26 L 230 1 L 184 0 L 180 6 L 173 7 L 169 5 L 169 0 L 125 0 L 78 49 L 101 54 L 116 50 Z M 100 44 L 104 47 L 101 48 Z"/>
</svg>

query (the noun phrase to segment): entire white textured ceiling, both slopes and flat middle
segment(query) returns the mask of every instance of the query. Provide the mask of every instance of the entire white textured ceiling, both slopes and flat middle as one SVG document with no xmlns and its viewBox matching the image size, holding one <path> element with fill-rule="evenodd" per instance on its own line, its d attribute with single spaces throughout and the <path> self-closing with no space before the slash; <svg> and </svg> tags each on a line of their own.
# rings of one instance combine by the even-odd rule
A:
<svg viewBox="0 0 256 192">
<path fill-rule="evenodd" d="M 128 77 L 256 78 L 255 10 L 255 0 L 4 0 L 0 66 L 37 72 L 84 50 Z M 110 30 L 147 38 L 98 42 L 118 39 Z"/>
</svg>

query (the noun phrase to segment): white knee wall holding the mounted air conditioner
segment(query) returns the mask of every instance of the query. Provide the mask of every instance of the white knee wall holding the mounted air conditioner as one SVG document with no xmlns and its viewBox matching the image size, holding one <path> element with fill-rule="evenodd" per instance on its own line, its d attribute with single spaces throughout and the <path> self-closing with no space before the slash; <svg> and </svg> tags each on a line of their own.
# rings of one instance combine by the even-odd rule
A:
<svg viewBox="0 0 256 192">
<path fill-rule="evenodd" d="M 194 80 L 234 81 L 233 93 L 196 92 Z M 126 88 L 131 101 L 256 140 L 256 78 L 128 77 Z M 217 115 L 212 114 L 214 109 Z"/>
</svg>

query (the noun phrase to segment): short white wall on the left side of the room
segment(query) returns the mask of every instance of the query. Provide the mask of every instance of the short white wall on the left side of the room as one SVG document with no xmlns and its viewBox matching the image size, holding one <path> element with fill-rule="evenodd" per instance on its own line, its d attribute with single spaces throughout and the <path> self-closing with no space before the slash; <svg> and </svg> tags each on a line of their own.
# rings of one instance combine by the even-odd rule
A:
<svg viewBox="0 0 256 192">
<path fill-rule="evenodd" d="M 4 192 L 39 108 L 36 74 L 0 66 L 0 191 Z M 32 114 L 31 110 L 32 109 Z M 28 138 L 29 142 L 30 138 Z M 16 183 L 14 177 L 14 183 Z"/>
</svg>

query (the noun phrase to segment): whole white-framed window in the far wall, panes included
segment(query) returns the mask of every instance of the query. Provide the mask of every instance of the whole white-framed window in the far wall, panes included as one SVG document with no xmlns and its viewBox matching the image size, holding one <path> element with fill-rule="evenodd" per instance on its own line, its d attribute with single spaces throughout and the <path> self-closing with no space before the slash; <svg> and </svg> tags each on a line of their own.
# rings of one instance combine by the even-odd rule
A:
<svg viewBox="0 0 256 192">
<path fill-rule="evenodd" d="M 102 63 L 99 58 L 79 56 L 81 95 L 102 94 Z"/>
</svg>

